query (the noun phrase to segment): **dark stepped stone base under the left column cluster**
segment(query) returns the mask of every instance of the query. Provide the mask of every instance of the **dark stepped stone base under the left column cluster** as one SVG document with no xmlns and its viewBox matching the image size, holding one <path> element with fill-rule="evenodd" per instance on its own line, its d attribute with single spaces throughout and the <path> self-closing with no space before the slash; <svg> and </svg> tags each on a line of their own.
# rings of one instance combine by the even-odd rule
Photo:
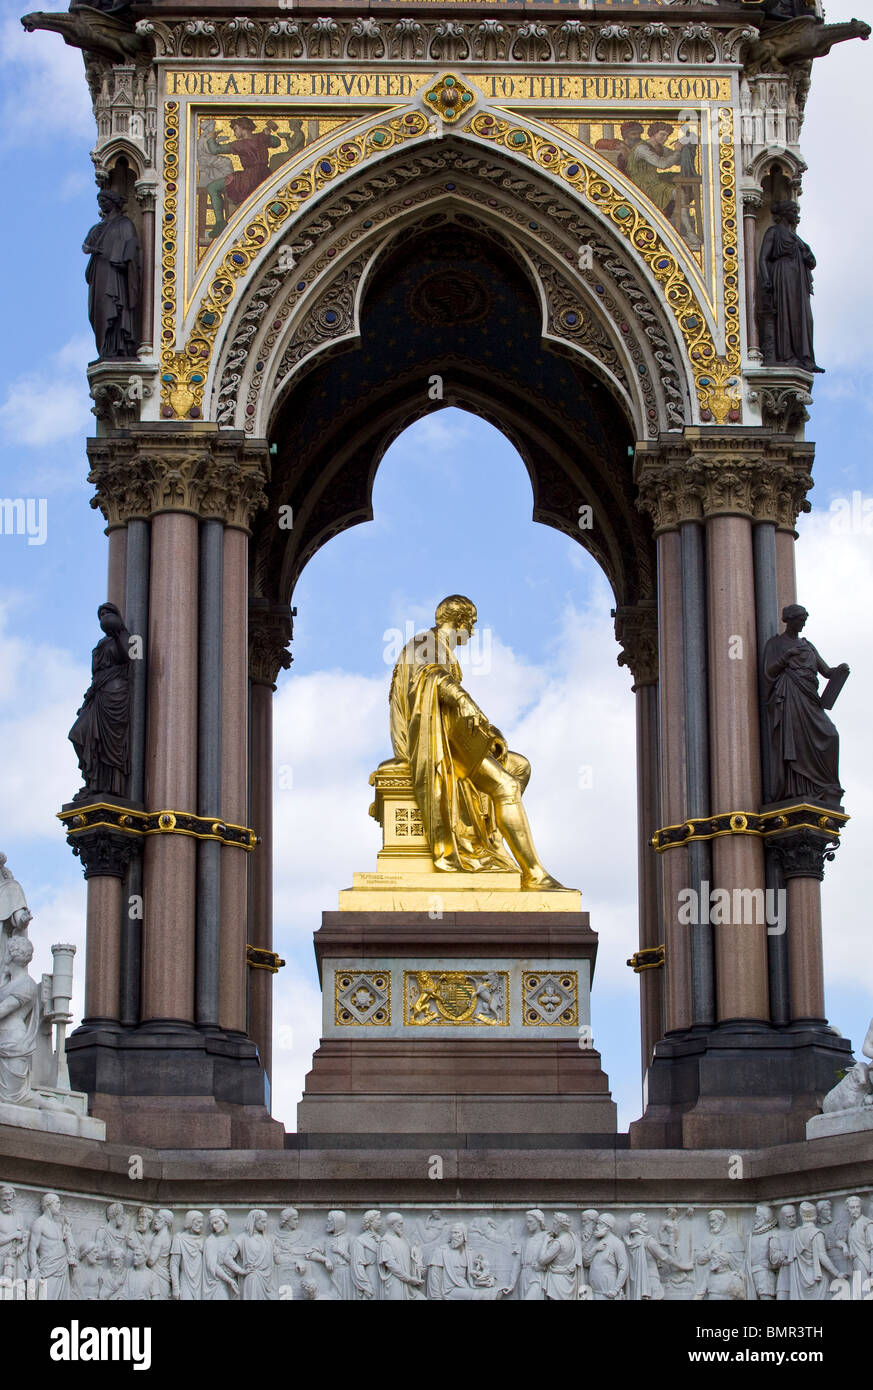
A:
<svg viewBox="0 0 873 1390">
<path fill-rule="evenodd" d="M 167 1148 L 281 1148 L 250 1038 L 154 1019 L 136 1029 L 76 1029 L 67 1040 L 74 1088 L 107 1138 Z"/>
</svg>

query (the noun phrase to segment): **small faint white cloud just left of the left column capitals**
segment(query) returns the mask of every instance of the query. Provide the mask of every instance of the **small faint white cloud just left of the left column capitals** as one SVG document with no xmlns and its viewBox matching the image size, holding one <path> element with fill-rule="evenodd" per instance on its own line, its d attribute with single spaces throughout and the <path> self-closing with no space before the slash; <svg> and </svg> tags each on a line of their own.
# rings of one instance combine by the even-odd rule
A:
<svg viewBox="0 0 873 1390">
<path fill-rule="evenodd" d="M 10 384 L 0 404 L 0 427 L 10 443 L 42 448 L 92 431 L 85 367 L 95 354 L 93 338 L 71 338 L 43 371 Z"/>
</svg>

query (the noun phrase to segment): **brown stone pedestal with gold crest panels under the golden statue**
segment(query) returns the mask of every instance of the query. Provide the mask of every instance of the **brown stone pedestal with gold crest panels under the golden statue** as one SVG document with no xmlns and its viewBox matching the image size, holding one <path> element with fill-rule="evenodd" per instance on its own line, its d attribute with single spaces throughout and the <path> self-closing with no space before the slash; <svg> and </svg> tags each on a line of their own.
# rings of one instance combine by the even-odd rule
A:
<svg viewBox="0 0 873 1390">
<path fill-rule="evenodd" d="M 297 1129 L 378 1144 L 614 1134 L 589 1045 L 595 954 L 584 912 L 325 913 L 323 1037 Z"/>
</svg>

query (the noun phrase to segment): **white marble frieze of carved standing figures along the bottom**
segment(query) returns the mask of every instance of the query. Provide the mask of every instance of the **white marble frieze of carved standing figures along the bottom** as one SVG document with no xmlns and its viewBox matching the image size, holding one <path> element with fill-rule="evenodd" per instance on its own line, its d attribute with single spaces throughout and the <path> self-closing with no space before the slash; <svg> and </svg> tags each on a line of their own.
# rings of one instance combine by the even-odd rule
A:
<svg viewBox="0 0 873 1390">
<path fill-rule="evenodd" d="M 153 1209 L 0 1183 L 0 1298 L 869 1301 L 873 1197 Z"/>
</svg>

